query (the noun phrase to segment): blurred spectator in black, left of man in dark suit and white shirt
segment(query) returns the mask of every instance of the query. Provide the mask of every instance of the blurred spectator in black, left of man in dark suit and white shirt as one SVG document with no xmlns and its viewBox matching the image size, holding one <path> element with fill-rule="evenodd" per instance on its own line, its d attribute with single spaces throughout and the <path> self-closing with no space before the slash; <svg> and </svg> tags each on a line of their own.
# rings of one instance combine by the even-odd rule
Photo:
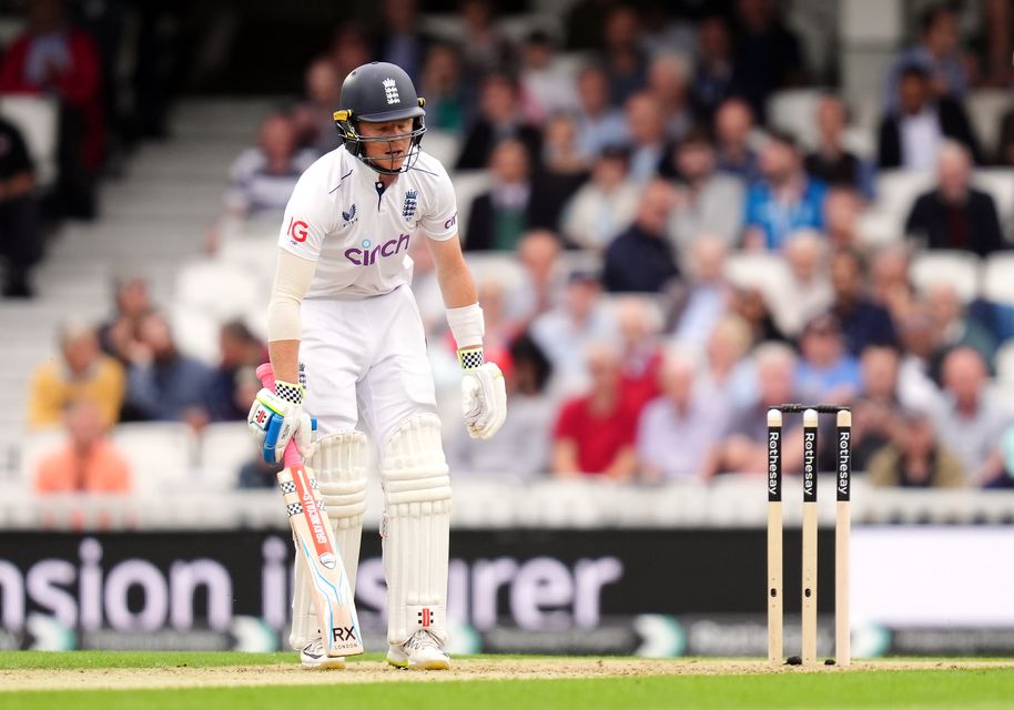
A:
<svg viewBox="0 0 1014 710">
<path fill-rule="evenodd" d="M 829 186 L 853 187 L 872 196 L 872 175 L 843 142 L 849 128 L 845 102 L 834 94 L 824 95 L 817 106 L 817 128 L 819 143 L 805 161 L 810 176 Z"/>
</svg>

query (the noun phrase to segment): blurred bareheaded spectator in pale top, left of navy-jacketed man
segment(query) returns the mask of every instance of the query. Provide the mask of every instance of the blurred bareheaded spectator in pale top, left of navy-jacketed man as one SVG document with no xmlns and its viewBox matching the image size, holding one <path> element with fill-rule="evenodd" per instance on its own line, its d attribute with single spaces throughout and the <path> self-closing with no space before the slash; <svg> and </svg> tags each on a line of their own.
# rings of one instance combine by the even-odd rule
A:
<svg viewBox="0 0 1014 710">
<path fill-rule="evenodd" d="M 560 240 L 549 230 L 533 230 L 518 242 L 521 282 L 507 297 L 508 317 L 525 327 L 562 298 Z M 413 285 L 415 290 L 415 285 Z"/>
</svg>

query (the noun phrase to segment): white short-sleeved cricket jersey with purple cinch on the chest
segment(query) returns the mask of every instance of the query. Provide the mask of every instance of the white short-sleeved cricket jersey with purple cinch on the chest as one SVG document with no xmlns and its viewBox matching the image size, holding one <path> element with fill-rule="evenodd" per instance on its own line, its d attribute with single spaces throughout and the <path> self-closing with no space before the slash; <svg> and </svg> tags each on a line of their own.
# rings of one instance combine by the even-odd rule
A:
<svg viewBox="0 0 1014 710">
<path fill-rule="evenodd" d="M 300 178 L 278 246 L 317 262 L 307 298 L 376 296 L 410 283 L 408 245 L 420 234 L 437 241 L 457 234 L 454 186 L 440 162 L 422 152 L 384 189 L 343 145 Z"/>
</svg>

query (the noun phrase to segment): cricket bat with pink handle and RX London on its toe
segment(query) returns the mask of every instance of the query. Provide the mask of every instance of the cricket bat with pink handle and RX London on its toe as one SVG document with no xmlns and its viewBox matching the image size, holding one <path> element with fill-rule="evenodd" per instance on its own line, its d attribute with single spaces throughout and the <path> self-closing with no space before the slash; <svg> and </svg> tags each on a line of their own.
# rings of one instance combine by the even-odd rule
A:
<svg viewBox="0 0 1014 710">
<path fill-rule="evenodd" d="M 261 384 L 274 392 L 271 364 L 257 367 Z M 292 536 L 313 582 L 313 606 L 321 623 L 324 650 L 328 656 L 357 656 L 364 651 L 355 596 L 348 587 L 345 565 L 334 544 L 327 511 L 321 504 L 317 480 L 303 464 L 296 443 L 290 440 L 284 454 L 285 468 L 278 471 L 278 487 L 285 500 Z"/>
</svg>

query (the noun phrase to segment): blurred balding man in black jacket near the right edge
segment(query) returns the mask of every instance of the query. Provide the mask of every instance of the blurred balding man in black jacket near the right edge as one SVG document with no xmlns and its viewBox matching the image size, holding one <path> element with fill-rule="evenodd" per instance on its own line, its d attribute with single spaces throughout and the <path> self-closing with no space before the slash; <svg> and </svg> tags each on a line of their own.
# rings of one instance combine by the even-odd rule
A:
<svg viewBox="0 0 1014 710">
<path fill-rule="evenodd" d="M 971 184 L 972 162 L 959 143 L 944 142 L 936 161 L 936 187 L 921 194 L 905 220 L 905 233 L 929 248 L 986 256 L 1005 247 L 993 197 Z"/>
</svg>

